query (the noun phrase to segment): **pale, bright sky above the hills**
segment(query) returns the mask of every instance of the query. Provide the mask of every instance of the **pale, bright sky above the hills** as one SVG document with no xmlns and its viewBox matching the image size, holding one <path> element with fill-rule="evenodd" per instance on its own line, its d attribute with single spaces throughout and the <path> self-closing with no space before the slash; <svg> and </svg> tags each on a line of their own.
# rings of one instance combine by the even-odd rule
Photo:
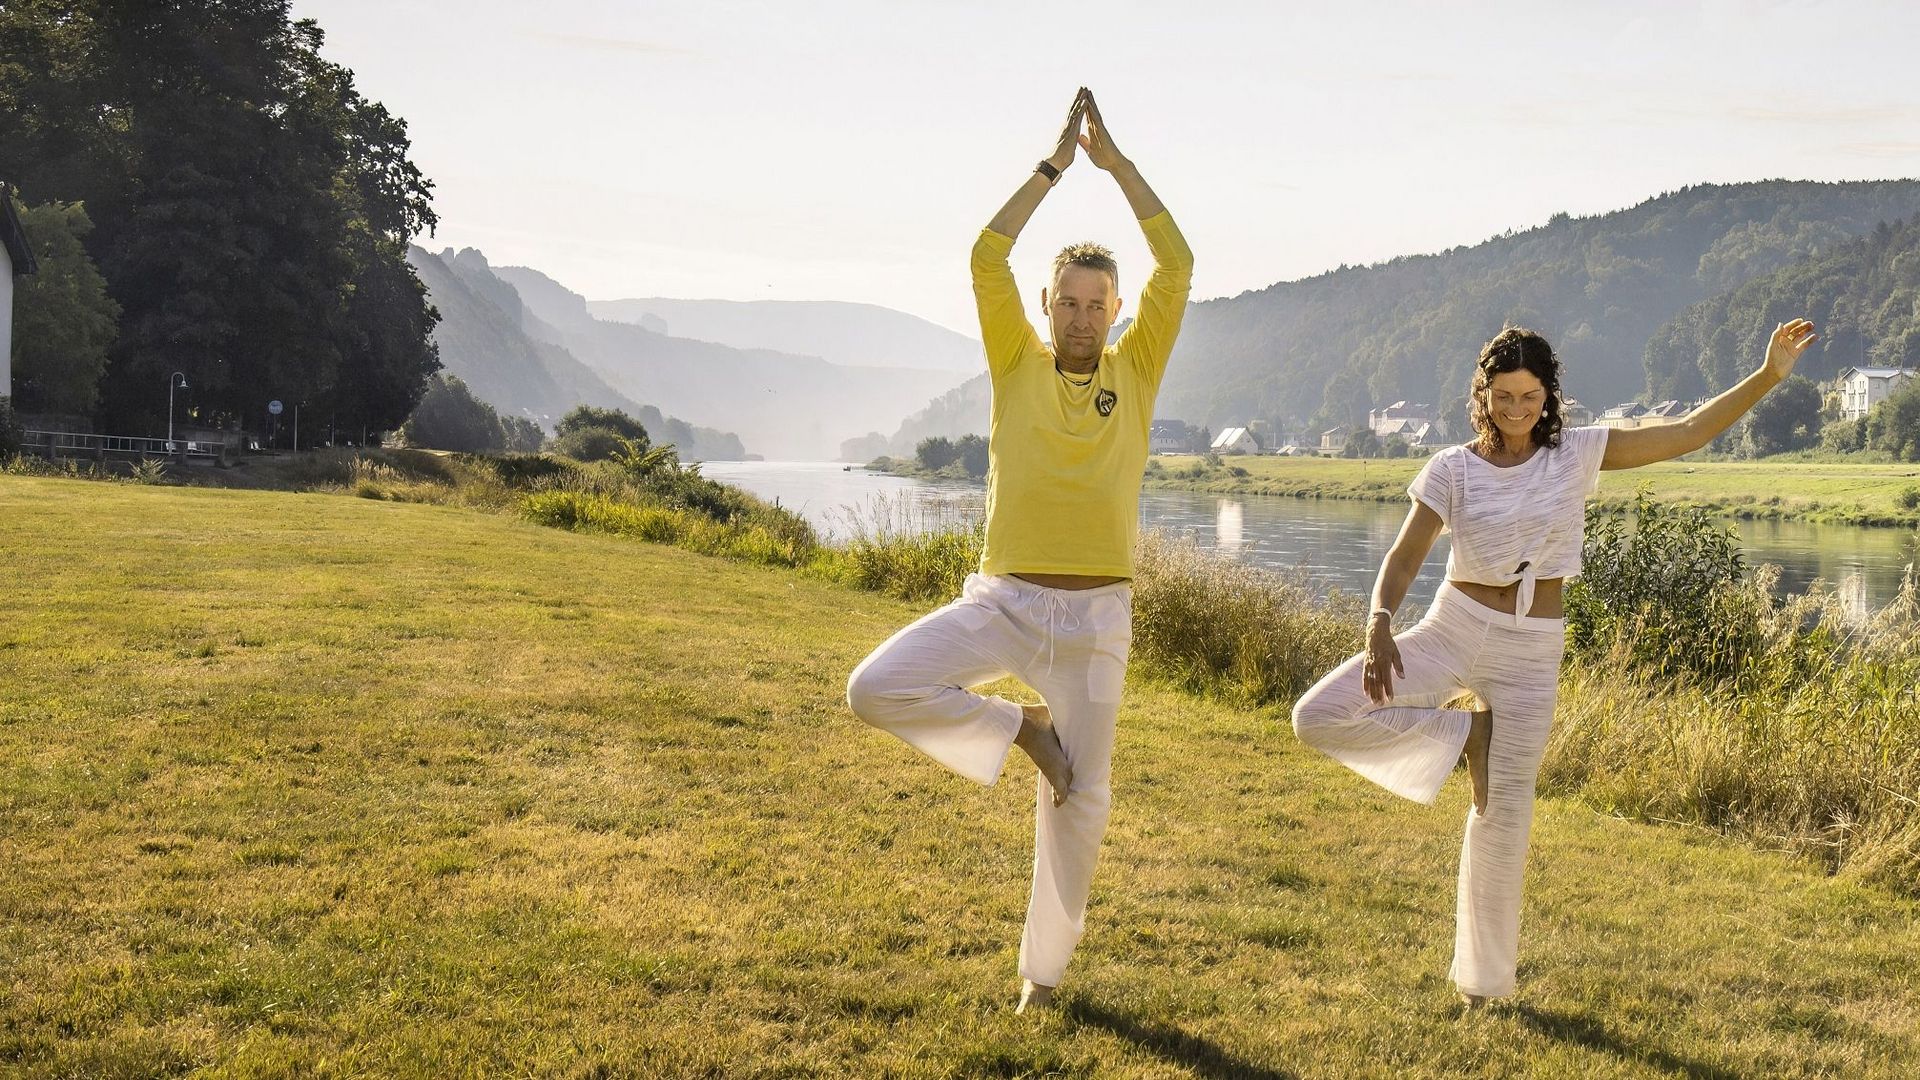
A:
<svg viewBox="0 0 1920 1080">
<path fill-rule="evenodd" d="M 409 121 L 430 250 L 593 300 L 854 300 L 977 334 L 966 254 L 1081 83 L 1194 300 L 1693 183 L 1920 177 L 1916 4 L 294 0 Z M 1081 158 L 1014 252 L 1148 265 Z"/>
</svg>

